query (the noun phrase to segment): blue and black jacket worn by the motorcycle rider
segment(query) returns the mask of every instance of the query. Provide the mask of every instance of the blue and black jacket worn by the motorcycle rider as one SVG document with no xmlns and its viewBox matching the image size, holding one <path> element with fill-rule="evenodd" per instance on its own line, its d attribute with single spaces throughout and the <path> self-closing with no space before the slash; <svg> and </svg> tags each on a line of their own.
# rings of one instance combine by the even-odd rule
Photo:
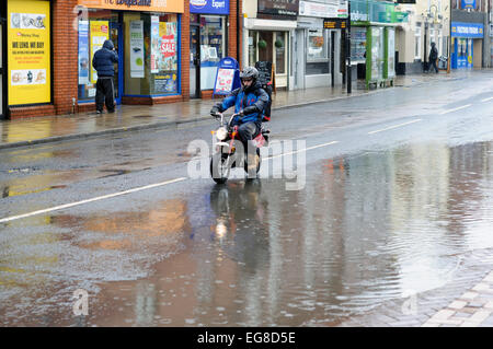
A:
<svg viewBox="0 0 493 349">
<path fill-rule="evenodd" d="M 237 117 L 237 121 L 239 124 L 250 121 L 262 124 L 262 114 L 264 113 L 267 104 L 267 92 L 262 89 L 259 81 L 255 81 L 255 84 L 250 86 L 248 90 L 240 88 L 231 92 L 231 94 L 228 95 L 219 105 L 219 109 L 220 112 L 223 112 L 234 105 L 234 113 L 240 113 L 244 108 L 249 107 L 246 110 L 253 110 L 253 113 L 245 113 L 241 119 Z"/>
</svg>

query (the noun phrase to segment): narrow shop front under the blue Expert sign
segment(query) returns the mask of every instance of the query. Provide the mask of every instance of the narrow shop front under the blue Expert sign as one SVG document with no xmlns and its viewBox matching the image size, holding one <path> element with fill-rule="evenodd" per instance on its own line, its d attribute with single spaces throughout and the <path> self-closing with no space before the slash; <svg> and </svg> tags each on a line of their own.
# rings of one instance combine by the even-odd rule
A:
<svg viewBox="0 0 493 349">
<path fill-rule="evenodd" d="M 190 1 L 190 95 L 211 91 L 219 61 L 228 56 L 229 0 Z"/>
</svg>

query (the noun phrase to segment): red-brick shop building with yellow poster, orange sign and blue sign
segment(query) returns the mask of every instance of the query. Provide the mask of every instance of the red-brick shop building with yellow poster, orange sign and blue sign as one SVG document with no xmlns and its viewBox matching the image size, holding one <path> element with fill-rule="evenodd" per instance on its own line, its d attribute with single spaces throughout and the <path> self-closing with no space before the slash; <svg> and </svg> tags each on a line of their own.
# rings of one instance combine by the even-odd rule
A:
<svg viewBox="0 0 493 349">
<path fill-rule="evenodd" d="M 94 109 L 92 56 L 105 39 L 118 53 L 117 104 L 210 98 L 219 60 L 241 58 L 237 0 L 7 0 L 1 10 L 10 118 Z"/>
</svg>

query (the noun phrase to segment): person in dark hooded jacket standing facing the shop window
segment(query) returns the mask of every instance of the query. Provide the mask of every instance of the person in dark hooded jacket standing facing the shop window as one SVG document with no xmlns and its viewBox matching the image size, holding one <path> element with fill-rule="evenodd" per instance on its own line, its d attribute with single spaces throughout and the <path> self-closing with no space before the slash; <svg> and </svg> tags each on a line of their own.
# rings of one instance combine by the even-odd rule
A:
<svg viewBox="0 0 493 349">
<path fill-rule="evenodd" d="M 95 51 L 92 59 L 92 67 L 98 71 L 96 82 L 96 112 L 103 113 L 103 105 L 106 104 L 108 113 L 115 113 L 115 85 L 113 77 L 115 75 L 115 67 L 113 63 L 118 62 L 118 55 L 112 40 L 105 40 L 103 48 Z"/>
</svg>

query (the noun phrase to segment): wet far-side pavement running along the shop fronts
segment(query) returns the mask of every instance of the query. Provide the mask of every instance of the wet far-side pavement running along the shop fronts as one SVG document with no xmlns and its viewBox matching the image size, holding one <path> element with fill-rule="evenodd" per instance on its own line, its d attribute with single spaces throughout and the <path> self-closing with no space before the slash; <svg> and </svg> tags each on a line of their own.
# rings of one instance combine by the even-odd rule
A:
<svg viewBox="0 0 493 349">
<path fill-rule="evenodd" d="M 463 73 L 440 72 L 439 74 L 405 75 L 395 79 L 395 88 L 426 83 L 431 79 L 457 79 Z M 395 89 L 393 88 L 393 89 Z M 389 89 L 389 88 L 388 88 Z M 392 89 L 392 88 L 390 88 Z M 387 89 L 359 90 L 353 84 L 352 93 L 345 86 L 317 88 L 299 91 L 278 91 L 273 94 L 273 117 L 277 110 L 296 106 L 358 97 L 379 93 Z M 219 100 L 191 100 L 161 105 L 119 105 L 114 114 L 96 115 L 94 112 L 0 120 L 0 149 L 33 146 L 39 143 L 80 139 L 94 136 L 137 131 L 179 124 L 211 119 L 209 112 Z"/>
</svg>

